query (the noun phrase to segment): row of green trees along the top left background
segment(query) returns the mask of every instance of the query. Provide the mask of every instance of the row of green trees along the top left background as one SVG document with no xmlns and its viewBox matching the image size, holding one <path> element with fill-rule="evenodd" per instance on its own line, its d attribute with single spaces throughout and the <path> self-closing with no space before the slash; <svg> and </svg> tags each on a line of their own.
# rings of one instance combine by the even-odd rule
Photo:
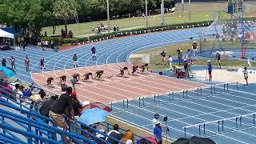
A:
<svg viewBox="0 0 256 144">
<path fill-rule="evenodd" d="M 148 0 L 149 10 L 159 9 L 161 0 Z M 174 5 L 165 0 L 165 6 Z M 145 10 L 145 0 L 110 0 L 110 14 L 134 14 Z M 1 0 L 0 23 L 22 28 L 38 36 L 43 26 L 88 22 L 106 18 L 106 0 Z M 67 27 L 66 30 L 67 31 Z"/>
</svg>

